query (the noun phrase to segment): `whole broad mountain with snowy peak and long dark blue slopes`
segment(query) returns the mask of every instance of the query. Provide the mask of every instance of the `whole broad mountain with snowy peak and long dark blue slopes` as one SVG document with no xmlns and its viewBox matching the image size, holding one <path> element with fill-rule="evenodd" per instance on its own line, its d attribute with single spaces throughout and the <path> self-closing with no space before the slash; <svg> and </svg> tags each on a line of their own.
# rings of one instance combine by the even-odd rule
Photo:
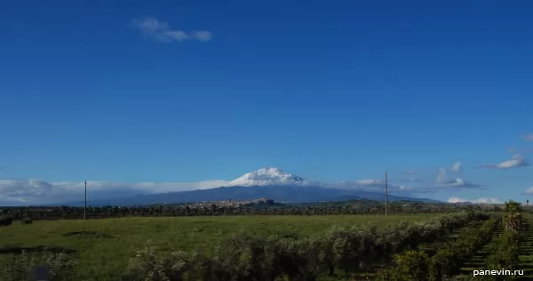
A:
<svg viewBox="0 0 533 281">
<path fill-rule="evenodd" d="M 90 196 L 89 196 L 90 197 Z M 385 201 L 384 192 L 370 192 L 361 189 L 334 188 L 318 181 L 307 181 L 296 175 L 284 173 L 278 168 L 262 168 L 246 173 L 235 181 L 228 181 L 227 186 L 216 189 L 199 189 L 191 191 L 145 194 L 134 197 L 109 198 L 89 201 L 88 205 L 154 205 L 196 203 L 219 200 L 251 200 L 260 197 L 272 198 L 275 202 L 314 203 L 323 201 L 346 201 L 367 199 Z M 442 203 L 441 201 L 389 195 L 390 201 L 418 201 L 425 203 Z M 84 205 L 83 201 L 53 205 Z"/>
</svg>

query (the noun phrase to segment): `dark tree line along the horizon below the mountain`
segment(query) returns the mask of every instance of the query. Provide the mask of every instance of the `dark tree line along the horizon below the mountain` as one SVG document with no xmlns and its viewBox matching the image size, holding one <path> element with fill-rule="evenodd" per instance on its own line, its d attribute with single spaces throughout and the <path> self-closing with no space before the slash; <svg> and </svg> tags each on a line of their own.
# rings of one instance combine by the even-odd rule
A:
<svg viewBox="0 0 533 281">
<path fill-rule="evenodd" d="M 391 203 L 388 213 L 453 213 L 461 210 L 494 209 L 497 206 L 481 205 L 429 205 L 421 203 Z M 385 213 L 384 204 L 362 205 L 248 205 L 218 206 L 215 204 L 191 207 L 189 205 L 150 205 L 150 206 L 88 206 L 87 219 L 120 217 L 183 217 L 183 216 L 222 216 L 222 215 L 331 215 L 331 214 L 380 214 Z M 84 207 L 4 207 L 0 218 L 12 220 L 31 218 L 32 220 L 84 219 Z"/>
</svg>

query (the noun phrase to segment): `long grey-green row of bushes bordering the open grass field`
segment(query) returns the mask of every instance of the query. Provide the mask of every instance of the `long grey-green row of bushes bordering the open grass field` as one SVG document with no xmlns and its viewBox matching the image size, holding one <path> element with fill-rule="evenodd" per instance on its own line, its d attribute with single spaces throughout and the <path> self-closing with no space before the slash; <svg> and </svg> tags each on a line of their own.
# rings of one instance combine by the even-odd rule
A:
<svg viewBox="0 0 533 281">
<path fill-rule="evenodd" d="M 434 241 L 470 221 L 487 219 L 481 213 L 461 213 L 385 229 L 336 227 L 314 237 L 241 232 L 221 243 L 212 257 L 184 252 L 162 255 L 149 246 L 131 259 L 124 280 L 312 281 L 336 270 L 348 278 L 390 261 L 394 253 Z"/>
</svg>

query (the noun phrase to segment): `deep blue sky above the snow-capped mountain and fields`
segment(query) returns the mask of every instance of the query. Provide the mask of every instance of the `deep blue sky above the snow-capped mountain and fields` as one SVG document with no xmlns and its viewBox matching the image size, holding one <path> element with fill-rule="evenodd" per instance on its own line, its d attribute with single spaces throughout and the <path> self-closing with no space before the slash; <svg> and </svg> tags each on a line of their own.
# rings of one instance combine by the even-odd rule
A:
<svg viewBox="0 0 533 281">
<path fill-rule="evenodd" d="M 402 185 L 420 197 L 524 201 L 532 8 L 2 3 L 0 202 L 68 198 L 57 187 L 76 193 L 84 179 L 104 191 L 205 187 L 263 166 L 318 181 L 387 170 L 398 186 L 412 170 Z M 508 169 L 480 168 L 515 154 Z"/>
</svg>

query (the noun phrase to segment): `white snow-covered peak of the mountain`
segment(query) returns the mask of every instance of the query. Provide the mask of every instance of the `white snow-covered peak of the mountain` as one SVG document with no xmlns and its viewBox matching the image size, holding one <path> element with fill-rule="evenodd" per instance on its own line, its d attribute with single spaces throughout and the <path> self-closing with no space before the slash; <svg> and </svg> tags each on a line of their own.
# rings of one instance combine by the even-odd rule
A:
<svg viewBox="0 0 533 281">
<path fill-rule="evenodd" d="M 234 181 L 229 181 L 225 186 L 264 187 L 274 185 L 303 186 L 309 184 L 311 184 L 311 181 L 306 181 L 302 177 L 285 173 L 279 168 L 267 167 L 251 173 L 245 173 Z"/>
</svg>

